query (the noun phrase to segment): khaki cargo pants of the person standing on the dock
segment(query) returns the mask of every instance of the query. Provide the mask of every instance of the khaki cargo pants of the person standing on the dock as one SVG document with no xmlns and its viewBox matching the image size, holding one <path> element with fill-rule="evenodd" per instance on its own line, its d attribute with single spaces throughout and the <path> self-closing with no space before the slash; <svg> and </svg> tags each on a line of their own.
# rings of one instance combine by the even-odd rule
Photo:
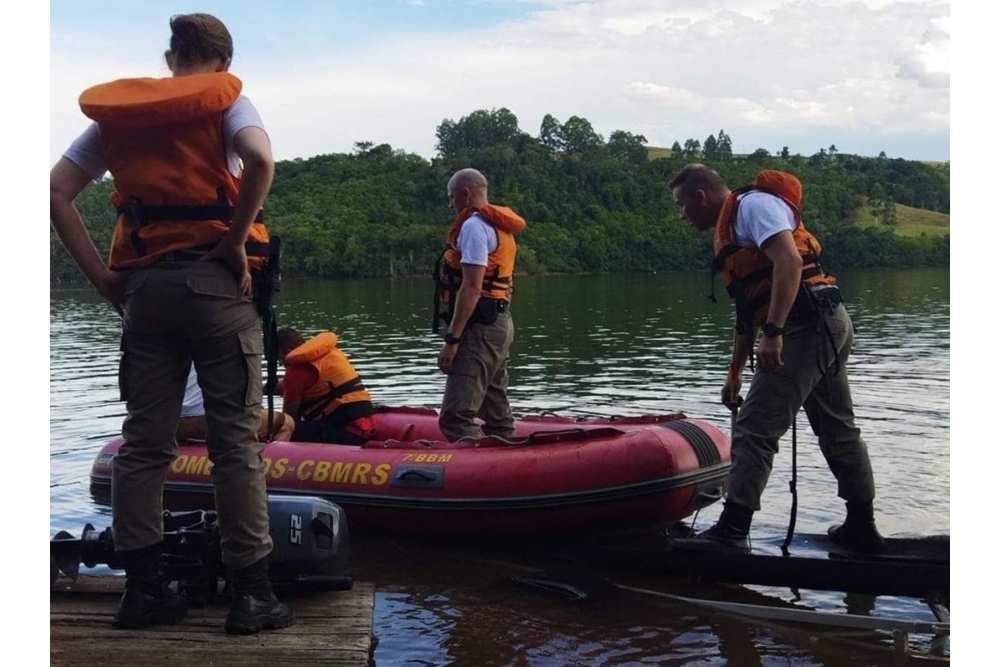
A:
<svg viewBox="0 0 1000 667">
<path fill-rule="evenodd" d="M 218 262 L 160 262 L 129 275 L 123 328 L 119 386 L 128 415 L 112 463 L 115 548 L 163 539 L 163 485 L 177 455 L 174 432 L 193 360 L 205 399 L 222 560 L 252 565 L 273 547 L 257 441 L 264 344 L 253 301 Z"/>
</svg>

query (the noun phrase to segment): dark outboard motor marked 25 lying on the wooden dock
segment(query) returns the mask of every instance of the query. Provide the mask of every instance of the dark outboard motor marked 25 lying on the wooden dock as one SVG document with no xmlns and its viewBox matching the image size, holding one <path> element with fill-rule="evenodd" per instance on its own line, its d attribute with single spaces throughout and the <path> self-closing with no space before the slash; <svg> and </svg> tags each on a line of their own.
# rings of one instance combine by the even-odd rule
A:
<svg viewBox="0 0 1000 667">
<path fill-rule="evenodd" d="M 347 576 L 350 534 L 344 510 L 322 498 L 272 495 L 267 499 L 274 550 L 270 556 L 271 583 L 276 589 L 349 590 Z M 111 528 L 98 531 L 86 524 L 79 539 L 66 531 L 52 538 L 51 576 L 59 573 L 76 581 L 80 564 L 122 569 Z M 218 515 L 214 510 L 163 513 L 165 581 L 178 582 L 178 591 L 193 602 L 211 600 L 224 576 L 219 547 Z"/>
</svg>

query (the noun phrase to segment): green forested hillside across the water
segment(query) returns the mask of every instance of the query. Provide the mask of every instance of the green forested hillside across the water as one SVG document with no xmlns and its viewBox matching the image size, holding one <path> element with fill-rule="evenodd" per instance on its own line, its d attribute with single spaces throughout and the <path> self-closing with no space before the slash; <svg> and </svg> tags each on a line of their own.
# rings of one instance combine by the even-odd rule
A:
<svg viewBox="0 0 1000 667">
<path fill-rule="evenodd" d="M 265 217 L 284 240 L 285 277 L 429 276 L 453 216 L 448 177 L 462 167 L 481 170 L 490 201 L 528 221 L 519 272 L 706 269 L 710 235 L 680 219 L 665 185 L 690 161 L 710 164 L 733 187 L 764 168 L 796 174 L 805 186 L 803 219 L 823 242 L 828 268 L 949 264 L 949 235 L 894 229 L 899 206 L 949 213 L 947 163 L 859 157 L 835 146 L 810 156 L 787 149 L 740 156 L 721 130 L 704 142 L 650 150 L 641 135 L 619 130 L 605 139 L 577 116 L 547 115 L 532 136 L 507 109 L 445 120 L 436 132 L 431 161 L 359 142 L 350 154 L 279 162 Z M 114 224 L 111 189 L 106 180 L 77 199 L 102 252 Z M 50 267 L 53 283 L 81 278 L 54 233 Z"/>
</svg>

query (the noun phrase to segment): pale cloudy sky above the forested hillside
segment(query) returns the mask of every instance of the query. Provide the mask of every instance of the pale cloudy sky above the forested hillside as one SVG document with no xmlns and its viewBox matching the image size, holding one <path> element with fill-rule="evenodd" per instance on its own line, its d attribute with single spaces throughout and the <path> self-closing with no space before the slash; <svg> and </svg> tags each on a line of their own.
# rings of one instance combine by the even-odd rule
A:
<svg viewBox="0 0 1000 667">
<path fill-rule="evenodd" d="M 233 34 L 232 71 L 278 159 L 388 143 L 432 157 L 444 119 L 581 116 L 669 147 L 949 160 L 948 2 L 937 0 L 52 0 L 50 162 L 85 87 L 167 76 L 172 14 Z"/>
</svg>

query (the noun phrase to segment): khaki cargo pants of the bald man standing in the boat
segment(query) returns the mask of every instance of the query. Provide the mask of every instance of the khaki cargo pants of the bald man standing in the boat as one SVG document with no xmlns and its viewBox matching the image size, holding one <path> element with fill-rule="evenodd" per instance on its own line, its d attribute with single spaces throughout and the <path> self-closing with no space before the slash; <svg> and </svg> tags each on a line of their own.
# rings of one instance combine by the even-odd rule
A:
<svg viewBox="0 0 1000 667">
<path fill-rule="evenodd" d="M 514 437 L 514 415 L 507 398 L 507 359 L 513 340 L 509 311 L 498 313 L 493 324 L 470 322 L 462 332 L 438 417 L 448 440 L 484 434 Z M 483 420 L 482 431 L 476 417 Z"/>
</svg>

